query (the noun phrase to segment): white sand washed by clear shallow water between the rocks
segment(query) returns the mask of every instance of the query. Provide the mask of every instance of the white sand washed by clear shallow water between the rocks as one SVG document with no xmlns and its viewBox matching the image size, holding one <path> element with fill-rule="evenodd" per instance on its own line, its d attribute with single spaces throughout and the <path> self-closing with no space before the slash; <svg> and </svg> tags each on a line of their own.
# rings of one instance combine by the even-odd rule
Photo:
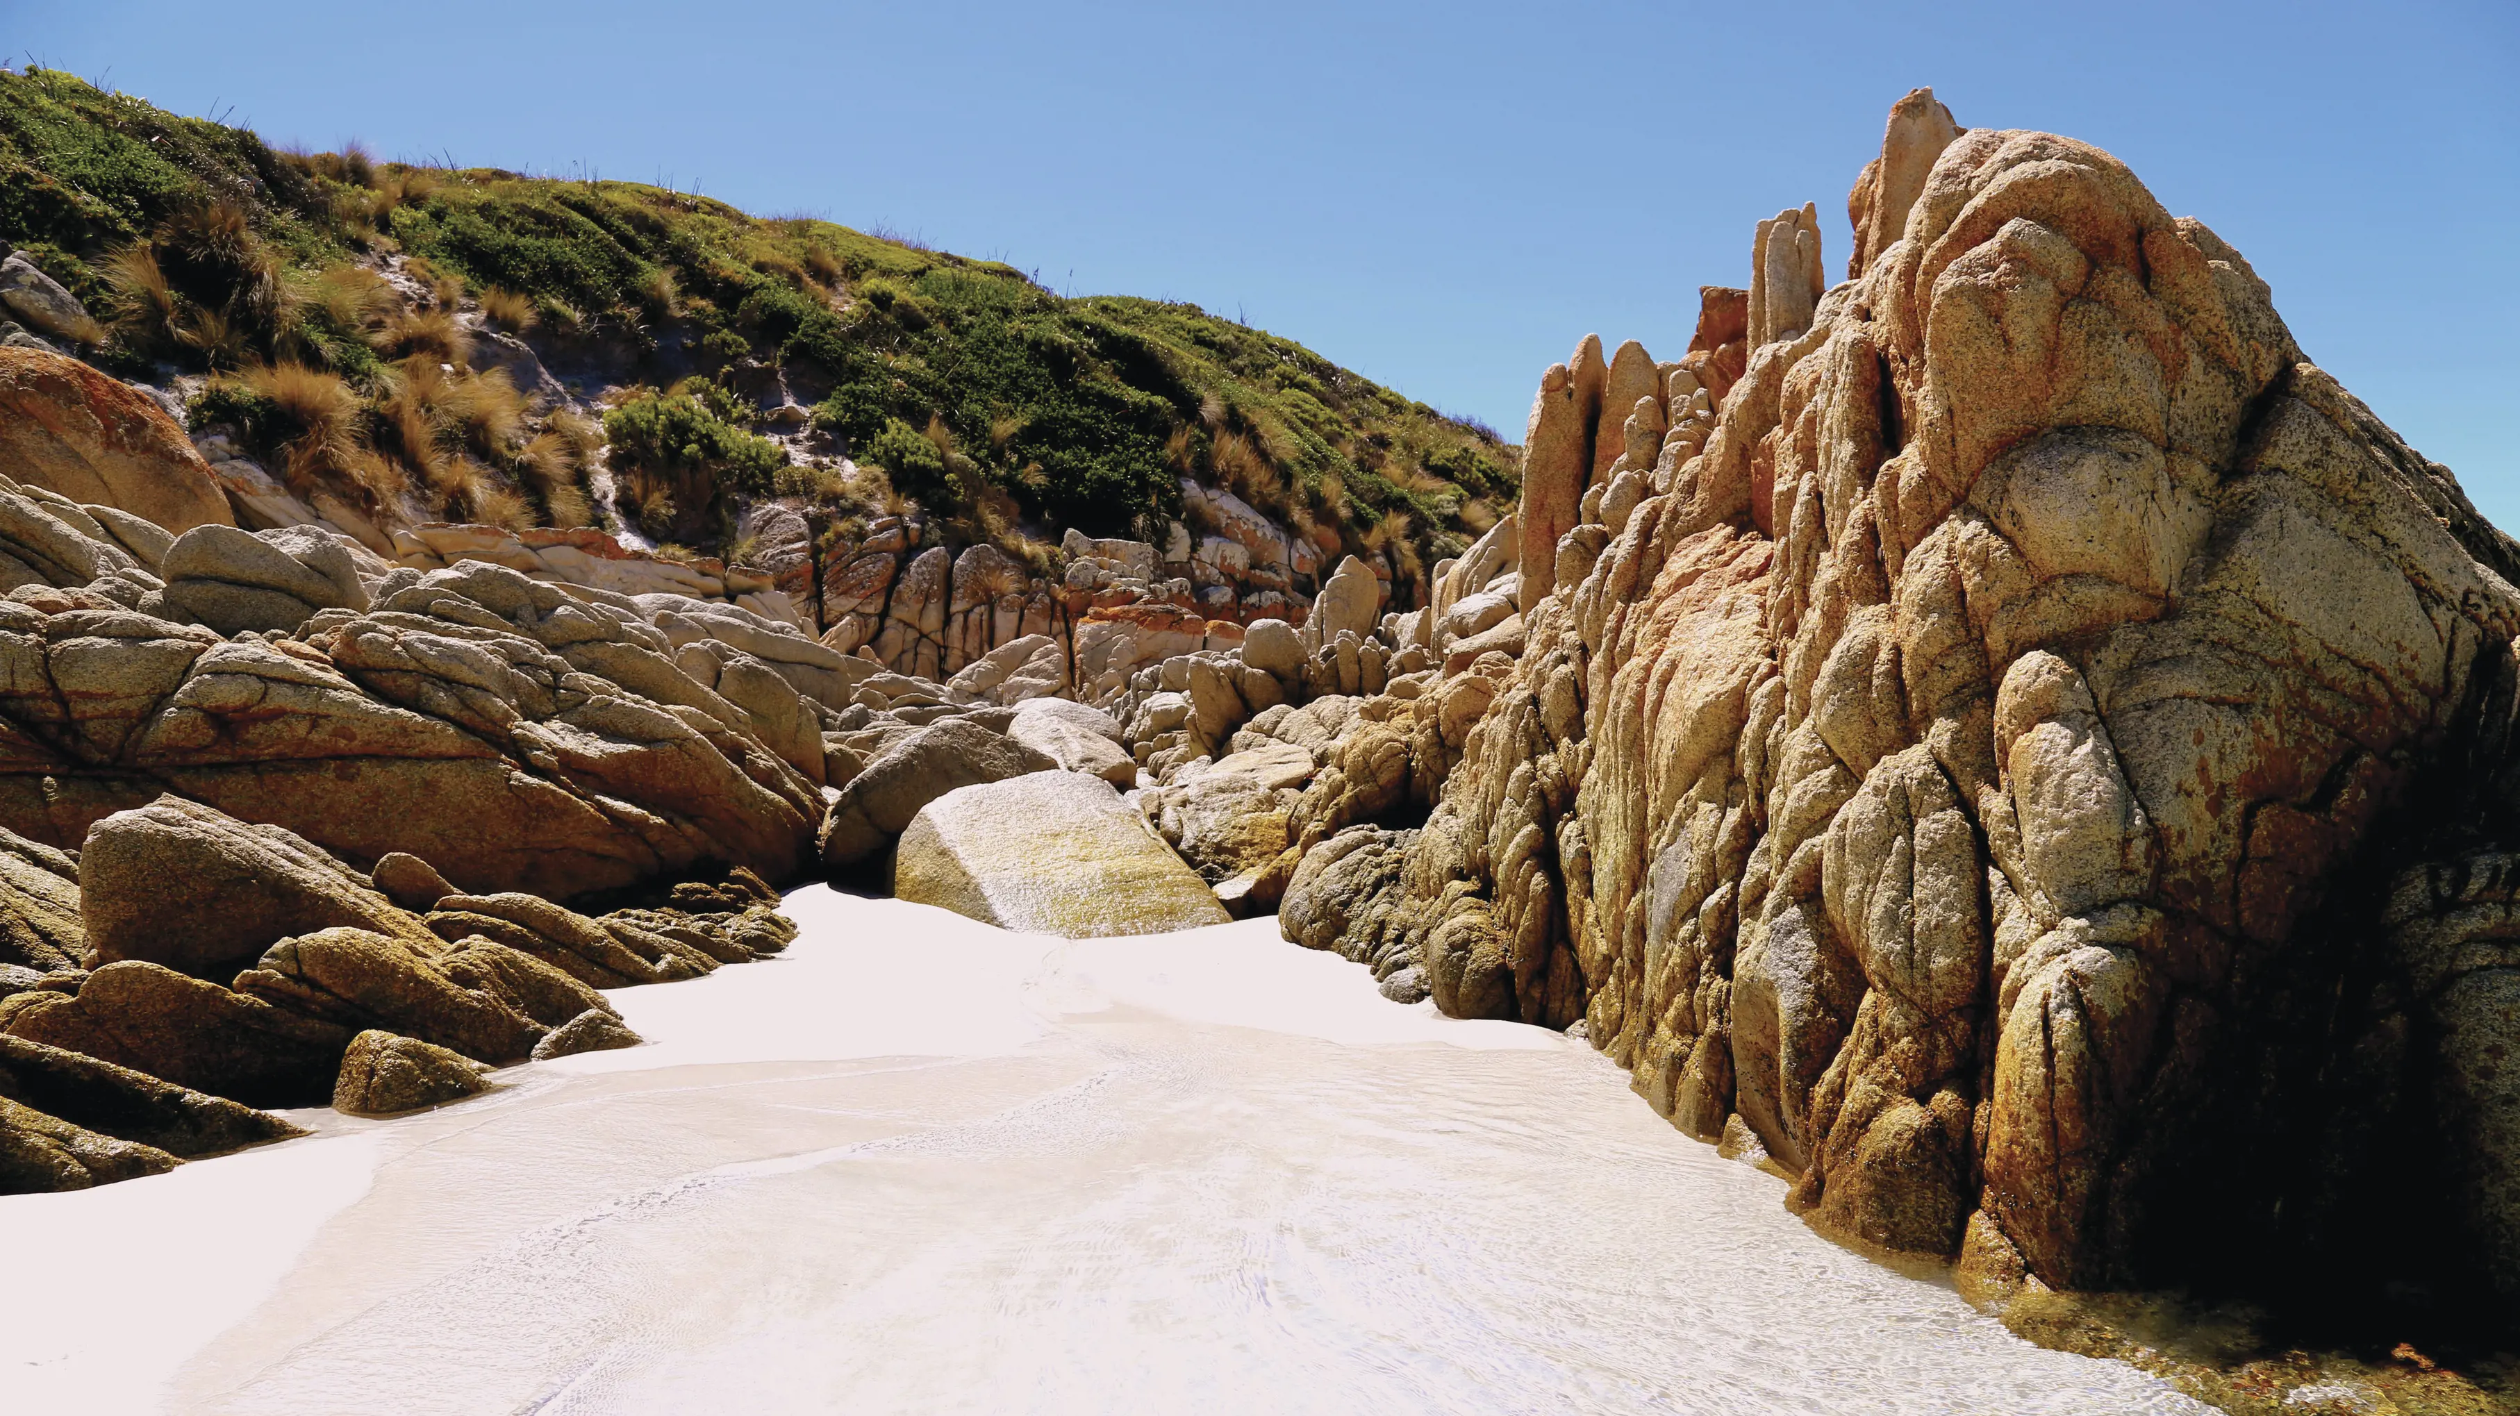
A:
<svg viewBox="0 0 2520 1416">
<path fill-rule="evenodd" d="M 781 960 L 617 993 L 645 1048 L 0 1199 L 0 1408 L 2205 1411 L 1273 920 L 791 912 Z"/>
</svg>

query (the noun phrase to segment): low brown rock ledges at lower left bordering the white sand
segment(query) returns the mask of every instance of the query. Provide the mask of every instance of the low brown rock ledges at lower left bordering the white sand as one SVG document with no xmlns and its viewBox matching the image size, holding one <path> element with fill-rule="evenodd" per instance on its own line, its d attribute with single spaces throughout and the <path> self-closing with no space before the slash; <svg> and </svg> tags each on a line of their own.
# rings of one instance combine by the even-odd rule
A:
<svg viewBox="0 0 2520 1416">
<path fill-rule="evenodd" d="M 60 1048 L 247 1106 L 345 1096 L 363 1111 L 408 1109 L 373 1099 L 408 1096 L 393 1081 L 403 1073 L 378 1058 L 353 1068 L 358 1076 L 343 1091 L 343 1051 L 360 1031 L 479 1063 L 635 1046 L 638 1036 L 597 988 L 698 978 L 796 937 L 794 922 L 771 912 L 779 894 L 743 869 L 718 882 L 685 879 L 653 907 L 602 917 L 532 894 L 451 894 L 436 882 L 416 889 L 431 907 L 421 917 L 287 831 L 176 799 L 113 816 L 91 842 L 91 862 L 103 869 L 91 864 L 88 889 L 71 887 L 68 907 L 86 905 L 108 942 L 136 937 L 154 952 L 199 962 L 252 937 L 297 932 L 252 950 L 257 957 L 234 975 L 234 988 L 141 957 L 98 960 L 96 950 L 81 955 L 96 962 L 93 973 L 13 965 L 0 973 L 0 1051 Z M 411 857 L 396 874 L 433 877 Z M 121 899 L 134 889 L 144 892 L 139 907 Z M 86 1114 L 20 1099 L 126 1136 Z M 63 1184 L 76 1179 L 55 1172 Z"/>
</svg>

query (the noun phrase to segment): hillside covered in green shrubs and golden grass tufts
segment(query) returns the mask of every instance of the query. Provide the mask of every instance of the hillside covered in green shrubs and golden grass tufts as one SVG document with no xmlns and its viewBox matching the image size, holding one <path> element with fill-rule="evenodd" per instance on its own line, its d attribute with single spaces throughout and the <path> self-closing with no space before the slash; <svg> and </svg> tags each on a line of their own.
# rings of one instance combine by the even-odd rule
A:
<svg viewBox="0 0 2520 1416">
<path fill-rule="evenodd" d="M 1142 532 L 1189 474 L 1414 569 L 1515 489 L 1494 433 L 1192 305 L 658 186 L 272 151 L 53 71 L 0 76 L 0 242 L 108 317 L 101 363 L 212 373 L 202 411 L 292 481 L 426 514 L 582 519 L 610 441 L 625 514 L 696 542 L 766 494 Z M 552 418 L 469 368 L 474 315 L 630 391 Z M 811 436 L 756 436 L 789 401 Z"/>
</svg>

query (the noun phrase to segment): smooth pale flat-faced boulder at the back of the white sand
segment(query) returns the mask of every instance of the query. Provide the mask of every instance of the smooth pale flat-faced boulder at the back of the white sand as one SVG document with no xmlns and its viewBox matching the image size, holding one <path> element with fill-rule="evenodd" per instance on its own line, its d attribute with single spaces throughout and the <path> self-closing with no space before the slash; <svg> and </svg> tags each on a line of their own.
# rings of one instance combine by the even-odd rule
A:
<svg viewBox="0 0 2520 1416">
<path fill-rule="evenodd" d="M 1036 771 L 925 804 L 892 864 L 900 899 L 1000 930 L 1159 935 L 1222 925 L 1225 907 L 1109 781 Z"/>
</svg>

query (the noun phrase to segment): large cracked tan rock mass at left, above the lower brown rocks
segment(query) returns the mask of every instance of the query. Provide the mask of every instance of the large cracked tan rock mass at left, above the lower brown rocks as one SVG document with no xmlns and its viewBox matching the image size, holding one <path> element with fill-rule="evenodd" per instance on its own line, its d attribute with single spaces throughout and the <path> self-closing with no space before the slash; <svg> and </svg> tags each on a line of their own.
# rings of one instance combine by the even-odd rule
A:
<svg viewBox="0 0 2520 1416">
<path fill-rule="evenodd" d="M 161 590 L 35 496 L 0 489 L 0 522 L 10 514 L 33 527 L 20 544 L 43 532 L 58 554 L 53 582 L 0 602 L 0 826 L 73 847 L 93 821 L 174 791 L 355 862 L 401 849 L 466 889 L 554 897 L 701 862 L 784 879 L 809 859 L 822 801 L 789 758 L 822 768 L 824 703 L 796 683 L 814 688 L 827 665 L 811 660 L 839 655 L 794 630 L 484 562 L 370 580 L 381 562 L 305 529 L 192 532 L 270 554 L 237 580 Z M 300 580 L 270 590 L 285 577 Z M 179 622 L 174 592 L 202 585 L 287 602 L 282 617 L 340 602 L 222 642 Z M 718 648 L 711 673 L 759 716 L 670 658 L 703 640 Z"/>
</svg>

